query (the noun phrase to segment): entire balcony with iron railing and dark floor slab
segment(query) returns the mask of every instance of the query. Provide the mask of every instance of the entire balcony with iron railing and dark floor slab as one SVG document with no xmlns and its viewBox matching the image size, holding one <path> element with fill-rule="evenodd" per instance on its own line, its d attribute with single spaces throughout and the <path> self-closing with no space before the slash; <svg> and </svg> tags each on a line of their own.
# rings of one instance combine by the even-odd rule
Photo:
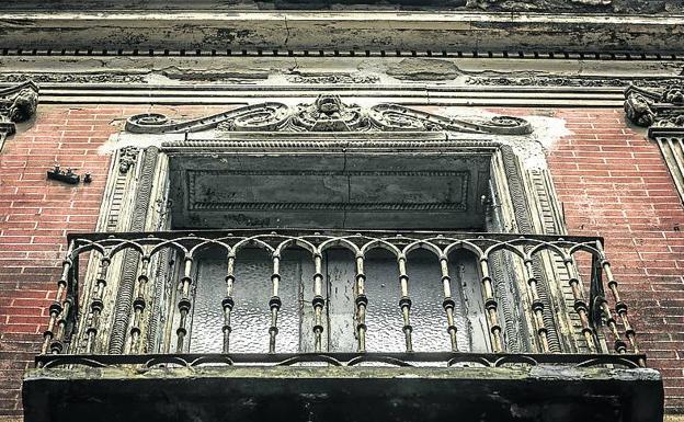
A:
<svg viewBox="0 0 684 422">
<path fill-rule="evenodd" d="M 631 327 L 601 238 L 76 233 L 26 421 L 654 421 Z"/>
</svg>

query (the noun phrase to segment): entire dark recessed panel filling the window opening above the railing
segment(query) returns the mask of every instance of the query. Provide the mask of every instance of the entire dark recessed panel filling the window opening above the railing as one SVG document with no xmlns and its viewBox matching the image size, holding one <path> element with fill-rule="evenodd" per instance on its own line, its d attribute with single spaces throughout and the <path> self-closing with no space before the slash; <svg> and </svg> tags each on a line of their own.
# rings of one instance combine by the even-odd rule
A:
<svg viewBox="0 0 684 422">
<path fill-rule="evenodd" d="M 171 161 L 174 227 L 479 229 L 489 156 L 274 155 Z"/>
</svg>

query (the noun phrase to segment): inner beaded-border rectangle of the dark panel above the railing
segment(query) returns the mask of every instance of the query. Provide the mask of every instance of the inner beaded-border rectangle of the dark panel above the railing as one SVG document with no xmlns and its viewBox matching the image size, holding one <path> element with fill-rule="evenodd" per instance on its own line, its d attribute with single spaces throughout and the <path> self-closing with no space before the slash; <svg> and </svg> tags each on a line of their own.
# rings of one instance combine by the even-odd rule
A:
<svg viewBox="0 0 684 422">
<path fill-rule="evenodd" d="M 189 179 L 191 210 L 465 210 L 469 173 L 198 170 Z"/>
</svg>

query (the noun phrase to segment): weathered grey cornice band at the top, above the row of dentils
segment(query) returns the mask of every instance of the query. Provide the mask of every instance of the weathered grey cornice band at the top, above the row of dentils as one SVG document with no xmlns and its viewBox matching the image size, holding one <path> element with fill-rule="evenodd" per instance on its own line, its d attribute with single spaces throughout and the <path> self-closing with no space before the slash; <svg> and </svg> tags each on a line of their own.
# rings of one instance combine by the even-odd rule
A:
<svg viewBox="0 0 684 422">
<path fill-rule="evenodd" d="M 0 48 L 658 53 L 684 50 L 684 16 L 486 12 L 9 12 Z M 59 36 L 55 36 L 59 33 Z"/>
</svg>

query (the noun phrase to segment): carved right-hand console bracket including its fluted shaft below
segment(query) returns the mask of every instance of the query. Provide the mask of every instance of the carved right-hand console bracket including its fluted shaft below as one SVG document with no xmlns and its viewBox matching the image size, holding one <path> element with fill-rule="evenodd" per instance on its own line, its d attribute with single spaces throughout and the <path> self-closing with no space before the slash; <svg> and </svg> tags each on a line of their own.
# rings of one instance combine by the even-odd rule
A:
<svg viewBox="0 0 684 422">
<path fill-rule="evenodd" d="M 634 124 L 649 128 L 684 201 L 684 84 L 658 91 L 630 85 L 625 90 L 625 112 Z"/>
</svg>

